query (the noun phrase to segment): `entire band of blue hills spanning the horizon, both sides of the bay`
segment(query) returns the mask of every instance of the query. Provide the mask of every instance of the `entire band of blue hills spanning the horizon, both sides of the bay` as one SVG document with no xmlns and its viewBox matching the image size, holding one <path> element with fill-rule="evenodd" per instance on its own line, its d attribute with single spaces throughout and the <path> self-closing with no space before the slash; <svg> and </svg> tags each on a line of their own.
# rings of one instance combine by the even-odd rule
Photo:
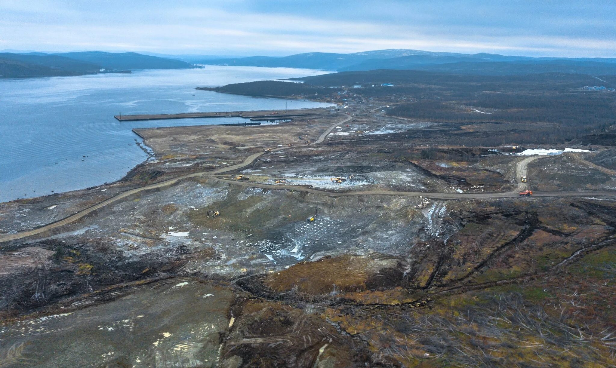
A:
<svg viewBox="0 0 616 368">
<path fill-rule="evenodd" d="M 163 57 L 164 56 L 164 57 Z M 183 59 L 183 60 L 182 60 Z M 616 75 L 616 58 L 526 57 L 387 49 L 352 54 L 309 52 L 285 57 L 144 55 L 136 52 L 0 52 L 0 78 L 128 73 L 140 69 L 183 69 L 195 64 L 269 66 L 330 71 L 422 70 L 451 74 L 516 75 L 572 73 Z M 102 71 L 103 70 L 103 71 Z"/>
</svg>

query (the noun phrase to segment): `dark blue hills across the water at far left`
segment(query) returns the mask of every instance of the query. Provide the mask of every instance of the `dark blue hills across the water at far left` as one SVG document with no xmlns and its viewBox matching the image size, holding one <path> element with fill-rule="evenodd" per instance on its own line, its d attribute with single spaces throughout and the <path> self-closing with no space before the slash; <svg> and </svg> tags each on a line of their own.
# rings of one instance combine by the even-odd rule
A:
<svg viewBox="0 0 616 368">
<path fill-rule="evenodd" d="M 182 60 L 162 58 L 136 52 L 65 52 L 45 54 L 28 52 L 0 53 L 0 78 L 28 78 L 39 76 L 75 76 L 105 71 L 139 69 L 184 69 L 193 65 Z"/>
</svg>

